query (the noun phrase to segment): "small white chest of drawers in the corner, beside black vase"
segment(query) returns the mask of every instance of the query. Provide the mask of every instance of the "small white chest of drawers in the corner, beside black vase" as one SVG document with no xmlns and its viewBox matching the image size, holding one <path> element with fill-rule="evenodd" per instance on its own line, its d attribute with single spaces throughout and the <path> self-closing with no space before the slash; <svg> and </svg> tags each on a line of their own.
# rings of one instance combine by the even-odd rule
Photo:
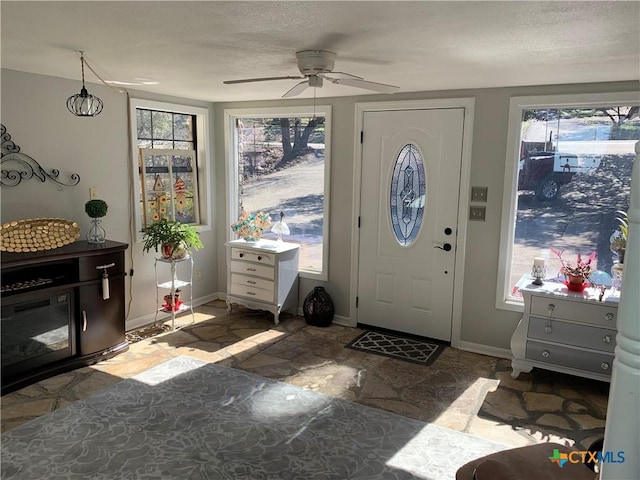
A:
<svg viewBox="0 0 640 480">
<path fill-rule="evenodd" d="M 273 313 L 298 307 L 298 252 L 300 245 L 288 242 L 244 240 L 227 242 L 227 310 L 237 303 Z"/>
</svg>

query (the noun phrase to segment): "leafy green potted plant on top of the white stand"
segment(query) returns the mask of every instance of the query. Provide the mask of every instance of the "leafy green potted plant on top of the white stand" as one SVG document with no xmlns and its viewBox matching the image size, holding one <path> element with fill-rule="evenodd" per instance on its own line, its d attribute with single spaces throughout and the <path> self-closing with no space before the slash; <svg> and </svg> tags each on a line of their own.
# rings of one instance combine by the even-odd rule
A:
<svg viewBox="0 0 640 480">
<path fill-rule="evenodd" d="M 180 259 L 203 247 L 197 227 L 163 218 L 142 229 L 142 250 L 152 248 L 164 258 Z"/>
</svg>

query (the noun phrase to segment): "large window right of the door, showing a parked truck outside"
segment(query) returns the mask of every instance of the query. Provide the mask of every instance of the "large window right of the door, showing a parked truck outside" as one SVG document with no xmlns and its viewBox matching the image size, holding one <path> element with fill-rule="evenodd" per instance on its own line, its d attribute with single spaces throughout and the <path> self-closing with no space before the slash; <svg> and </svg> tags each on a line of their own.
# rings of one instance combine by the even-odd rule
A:
<svg viewBox="0 0 640 480">
<path fill-rule="evenodd" d="M 534 257 L 548 281 L 564 281 L 551 249 L 575 265 L 596 254 L 596 277 L 610 282 L 619 261 L 611 238 L 629 208 L 637 94 L 518 97 L 511 101 L 496 306 L 522 309 L 519 282 Z"/>
</svg>

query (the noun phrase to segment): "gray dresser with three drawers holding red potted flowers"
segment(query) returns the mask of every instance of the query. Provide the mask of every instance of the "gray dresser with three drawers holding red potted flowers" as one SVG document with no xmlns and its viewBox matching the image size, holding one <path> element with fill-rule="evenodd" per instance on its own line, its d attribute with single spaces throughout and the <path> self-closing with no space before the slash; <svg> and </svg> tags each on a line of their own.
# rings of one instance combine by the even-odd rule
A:
<svg viewBox="0 0 640 480">
<path fill-rule="evenodd" d="M 617 293 L 561 283 L 526 285 L 524 315 L 511 337 L 513 378 L 533 367 L 610 381 L 616 346 Z"/>
</svg>

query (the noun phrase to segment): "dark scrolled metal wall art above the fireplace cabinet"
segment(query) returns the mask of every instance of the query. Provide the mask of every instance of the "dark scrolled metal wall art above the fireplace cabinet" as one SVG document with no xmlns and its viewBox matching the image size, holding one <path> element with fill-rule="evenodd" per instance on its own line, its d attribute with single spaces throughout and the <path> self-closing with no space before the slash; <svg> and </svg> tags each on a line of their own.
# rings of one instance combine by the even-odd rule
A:
<svg viewBox="0 0 640 480">
<path fill-rule="evenodd" d="M 80 183 L 80 175 L 77 173 L 69 175 L 69 182 L 63 182 L 58 178 L 60 176 L 59 170 L 55 168 L 45 170 L 35 159 L 21 153 L 20 147 L 11 140 L 11 135 L 7 133 L 4 125 L 0 125 L 0 137 L 2 137 L 0 184 L 3 187 L 15 187 L 22 180 L 29 180 L 33 177 L 41 182 L 48 178 L 65 187 L 73 187 Z"/>
</svg>

